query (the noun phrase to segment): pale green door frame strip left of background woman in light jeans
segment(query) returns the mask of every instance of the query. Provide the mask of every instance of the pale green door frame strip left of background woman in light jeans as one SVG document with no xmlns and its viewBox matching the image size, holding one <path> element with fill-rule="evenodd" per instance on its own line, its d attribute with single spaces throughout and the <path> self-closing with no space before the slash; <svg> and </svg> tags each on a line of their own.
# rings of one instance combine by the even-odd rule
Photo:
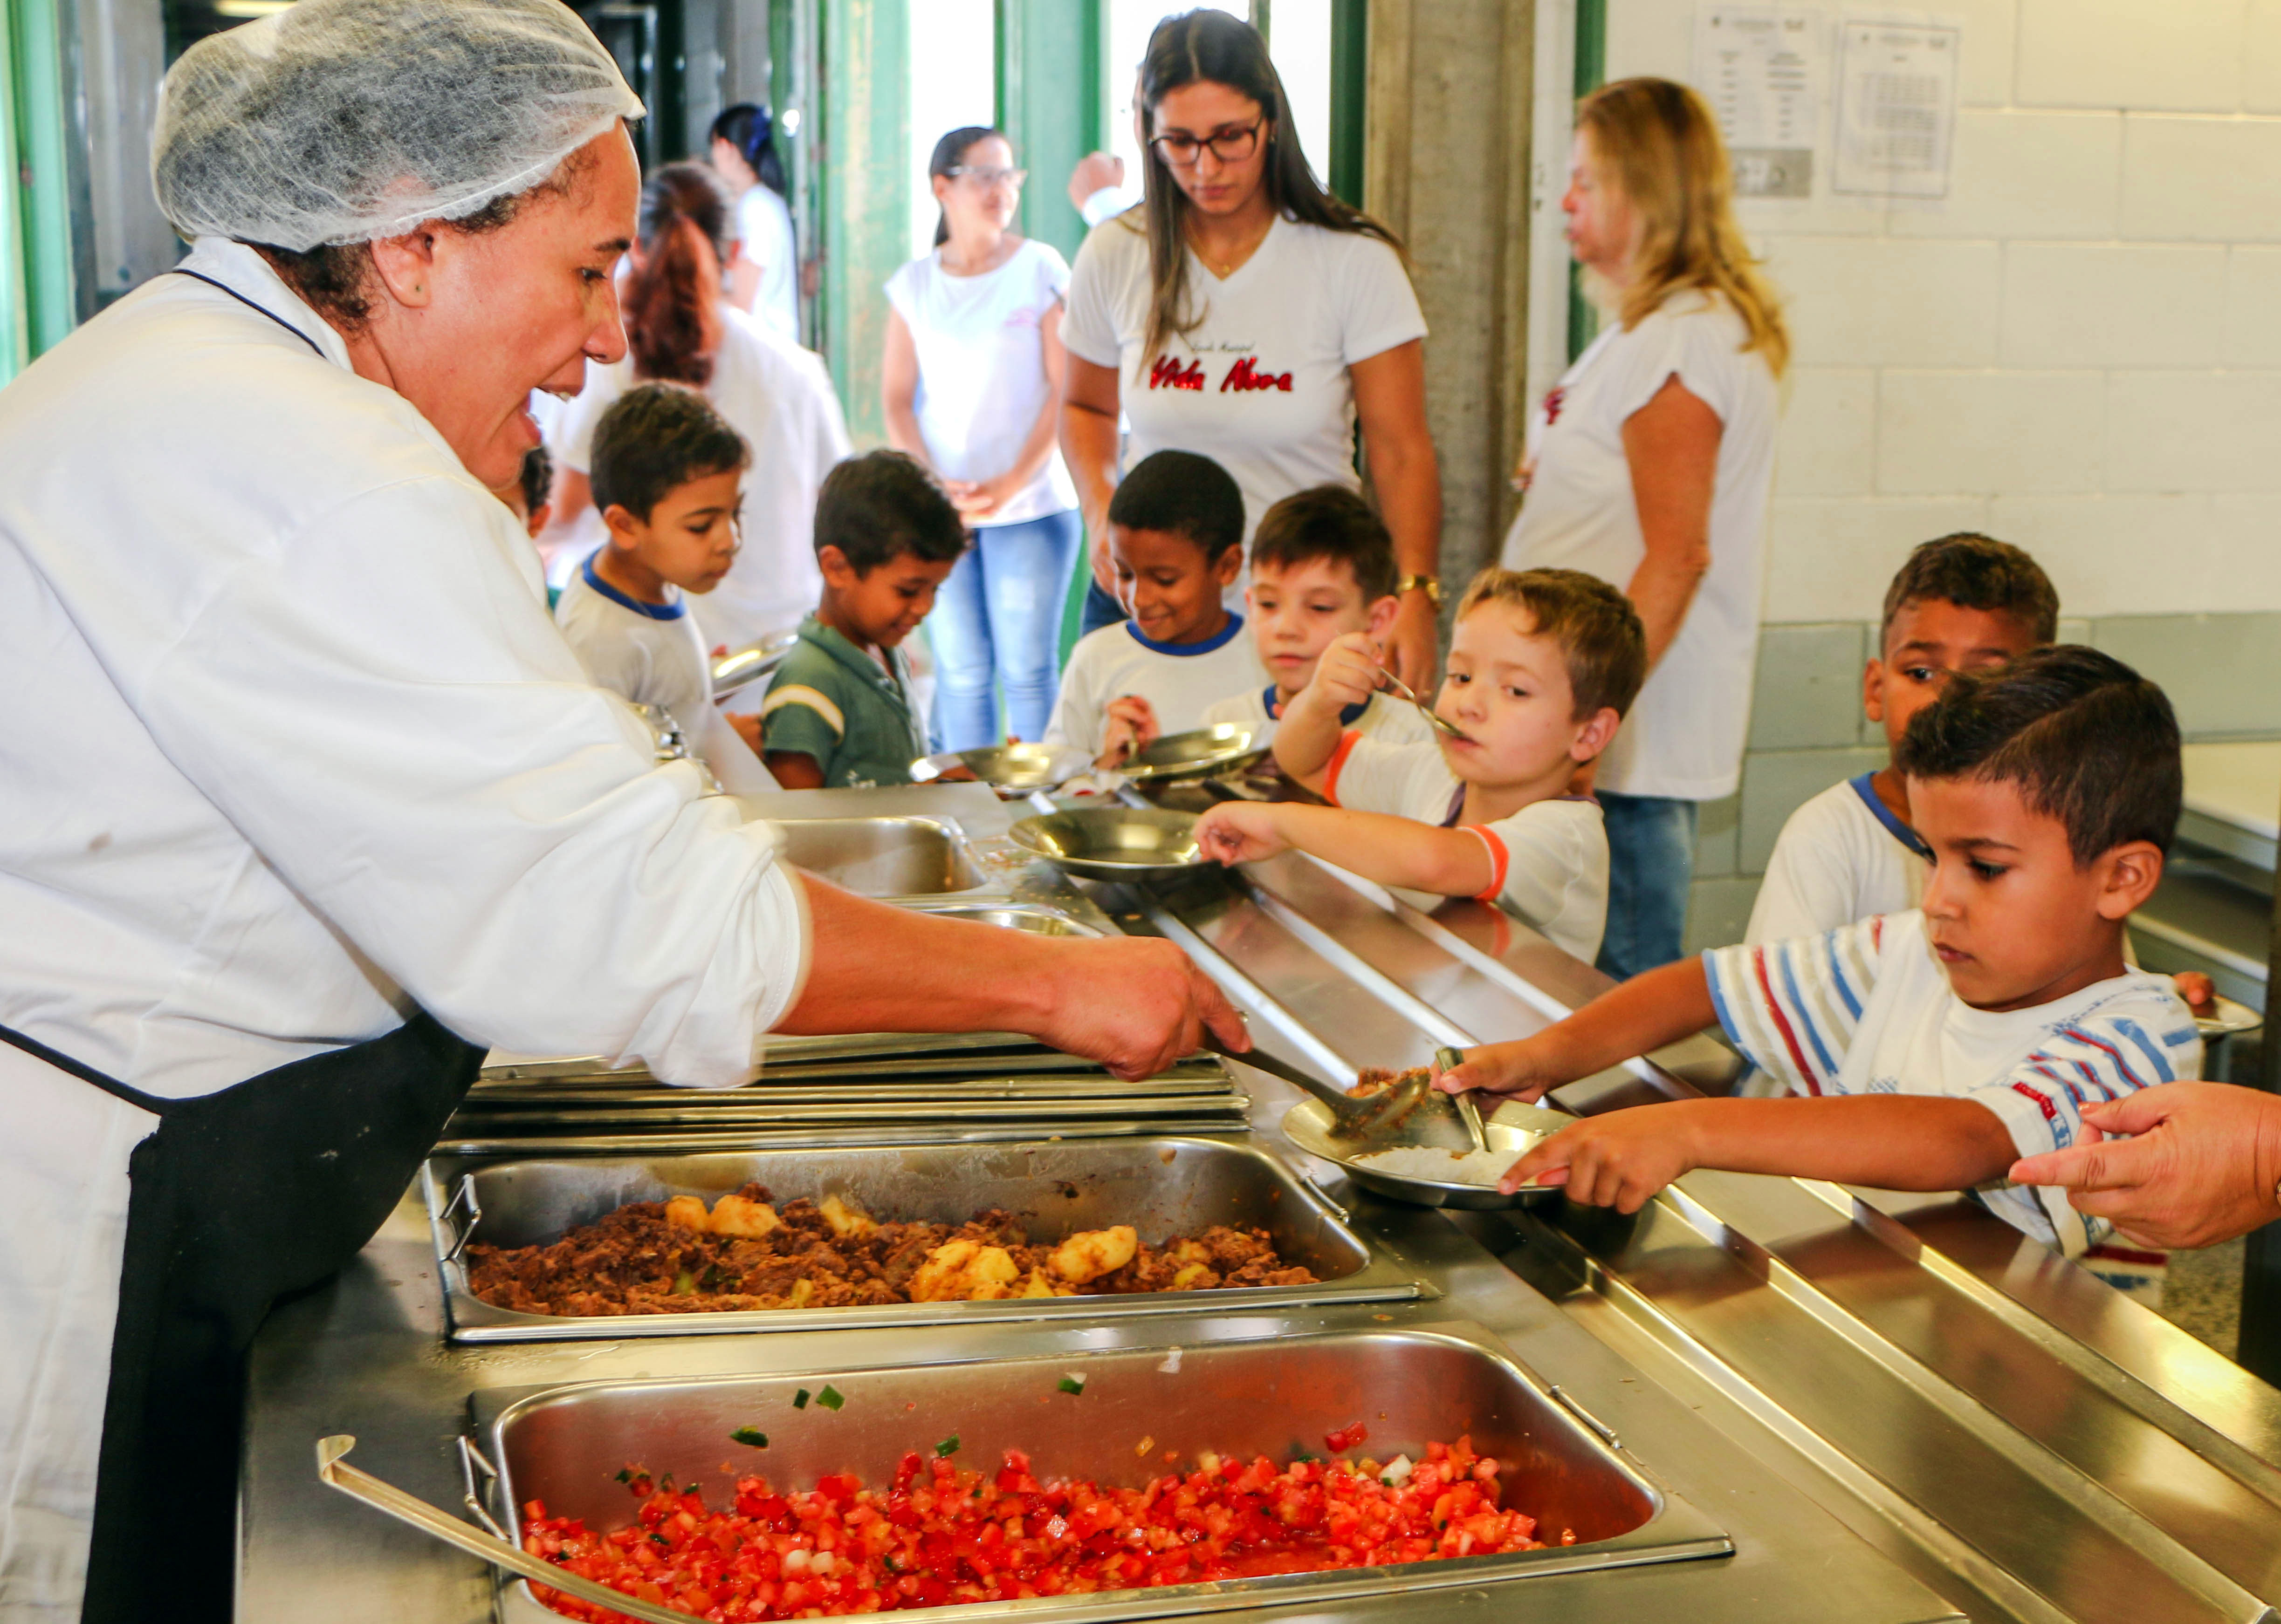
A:
<svg viewBox="0 0 2281 1624">
<path fill-rule="evenodd" d="M 924 5 L 924 0 L 919 0 Z M 817 333 L 858 447 L 887 440 L 878 404 L 887 297 L 910 230 L 910 0 L 823 0 L 814 180 Z"/>
</svg>

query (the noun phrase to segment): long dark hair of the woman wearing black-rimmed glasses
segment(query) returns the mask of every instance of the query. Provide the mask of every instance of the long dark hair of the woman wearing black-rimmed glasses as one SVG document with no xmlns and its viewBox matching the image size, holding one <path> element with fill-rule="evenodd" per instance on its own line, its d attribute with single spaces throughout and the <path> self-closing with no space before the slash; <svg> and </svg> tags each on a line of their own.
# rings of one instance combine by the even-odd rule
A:
<svg viewBox="0 0 2281 1624">
<path fill-rule="evenodd" d="M 1261 185 L 1268 203 L 1284 219 L 1325 230 L 1353 230 L 1378 237 L 1396 253 L 1403 239 L 1380 221 L 1350 203 L 1341 203 L 1307 167 L 1307 155 L 1298 148 L 1298 130 L 1291 125 L 1291 98 L 1284 96 L 1282 75 L 1268 57 L 1268 41 L 1259 30 L 1227 11 L 1182 11 L 1168 16 L 1147 36 L 1147 57 L 1140 59 L 1140 105 L 1147 109 L 1145 135 L 1156 132 L 1156 103 L 1186 84 L 1225 84 L 1259 103 L 1264 128 L 1259 139 L 1268 144 L 1266 173 Z M 1131 214 L 1118 219 L 1127 230 L 1147 230 L 1150 306 L 1147 338 L 1140 344 L 1140 370 L 1145 372 L 1156 351 L 1175 333 L 1186 338 L 1202 324 L 1202 312 L 1188 310 L 1188 194 L 1172 180 L 1154 146 L 1143 148 L 1143 192 L 1147 196 L 1147 226 L 1134 226 Z"/>
</svg>

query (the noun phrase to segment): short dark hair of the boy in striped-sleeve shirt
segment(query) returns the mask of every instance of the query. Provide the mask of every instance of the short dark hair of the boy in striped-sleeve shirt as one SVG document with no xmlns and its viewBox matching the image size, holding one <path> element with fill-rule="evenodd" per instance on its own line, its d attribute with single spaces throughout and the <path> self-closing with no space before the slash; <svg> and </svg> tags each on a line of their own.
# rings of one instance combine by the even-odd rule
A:
<svg viewBox="0 0 2281 1624">
<path fill-rule="evenodd" d="M 2067 826 L 2076 867 L 2124 842 L 2169 851 L 2183 776 L 2178 718 L 2153 682 L 2078 643 L 2030 648 L 1994 671 L 1957 671 L 1909 721 L 1893 766 L 1909 778 L 2019 785 Z"/>
</svg>

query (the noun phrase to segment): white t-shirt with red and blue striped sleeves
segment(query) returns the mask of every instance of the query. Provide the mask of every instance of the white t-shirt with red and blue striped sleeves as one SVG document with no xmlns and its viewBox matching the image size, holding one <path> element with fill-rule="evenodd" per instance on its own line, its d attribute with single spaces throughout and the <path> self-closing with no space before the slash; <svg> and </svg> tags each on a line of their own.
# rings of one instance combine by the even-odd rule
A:
<svg viewBox="0 0 2281 1624">
<path fill-rule="evenodd" d="M 2021 1156 L 2085 1136 L 2083 1106 L 2201 1074 L 2201 1036 L 2167 976 L 2128 972 L 2053 1004 L 1978 1010 L 1902 912 L 1704 953 L 1720 1026 L 1800 1095 L 1946 1095 L 1984 1104 Z M 2112 1236 L 2062 1188 L 1984 1184 L 1998 1218 L 2080 1257 Z"/>
</svg>

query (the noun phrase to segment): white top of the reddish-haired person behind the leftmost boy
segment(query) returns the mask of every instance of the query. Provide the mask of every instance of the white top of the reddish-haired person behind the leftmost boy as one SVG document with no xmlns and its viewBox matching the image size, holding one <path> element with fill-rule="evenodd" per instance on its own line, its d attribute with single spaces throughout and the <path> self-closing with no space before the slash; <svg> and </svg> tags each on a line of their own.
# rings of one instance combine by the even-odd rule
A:
<svg viewBox="0 0 2281 1624">
<path fill-rule="evenodd" d="M 563 463 L 593 472 L 593 429 L 634 381 L 632 356 L 586 367 L 586 388 L 557 424 Z M 705 397 L 753 449 L 744 477 L 744 550 L 696 607 L 705 645 L 737 650 L 794 630 L 823 595 L 817 490 L 849 454 L 849 427 L 823 360 L 728 301 L 721 303 L 721 351 Z"/>
</svg>

